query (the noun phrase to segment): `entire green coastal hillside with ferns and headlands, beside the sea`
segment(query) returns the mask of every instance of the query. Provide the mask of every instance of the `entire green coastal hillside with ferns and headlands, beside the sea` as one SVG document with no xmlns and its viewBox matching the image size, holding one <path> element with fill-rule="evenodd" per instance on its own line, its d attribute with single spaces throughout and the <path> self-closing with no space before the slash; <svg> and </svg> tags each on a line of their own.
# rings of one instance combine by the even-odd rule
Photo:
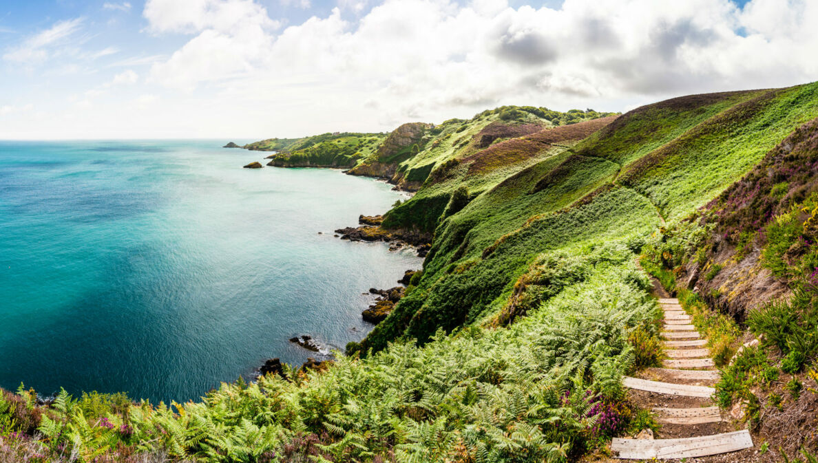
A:
<svg viewBox="0 0 818 463">
<path fill-rule="evenodd" d="M 416 190 L 383 223 L 432 238 L 406 297 L 323 371 L 285 367 L 200 402 L 63 393 L 38 406 L 25 388 L 3 393 L 0 461 L 577 461 L 655 425 L 621 384 L 661 356 L 642 267 L 685 304 L 720 301 L 681 276 L 698 265 L 719 281 L 706 276 L 751 241 L 798 294 L 786 306 L 798 317 L 782 320 L 779 304 L 749 324 L 789 358 L 784 371 L 806 375 L 818 357 L 816 118 L 810 83 L 619 116 L 503 107 L 247 146 L 279 151 L 273 165 L 343 166 Z M 761 383 L 736 368 L 722 405 Z"/>
</svg>

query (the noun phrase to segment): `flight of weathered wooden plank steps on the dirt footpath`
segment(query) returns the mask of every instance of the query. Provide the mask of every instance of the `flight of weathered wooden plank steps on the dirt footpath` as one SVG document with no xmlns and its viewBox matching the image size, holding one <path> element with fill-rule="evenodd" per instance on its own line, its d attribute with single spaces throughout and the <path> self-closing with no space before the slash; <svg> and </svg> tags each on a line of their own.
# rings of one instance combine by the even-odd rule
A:
<svg viewBox="0 0 818 463">
<path fill-rule="evenodd" d="M 707 344 L 690 316 L 679 305 L 678 299 L 659 299 L 664 310 L 665 353 L 664 368 L 648 368 L 645 375 L 663 379 L 645 380 L 626 377 L 623 384 L 628 389 L 655 395 L 659 401 L 672 405 L 684 398 L 698 398 L 709 401 L 716 392 L 710 386 L 700 383 L 715 383 L 719 374 L 709 358 Z M 688 384 L 697 382 L 698 384 Z M 687 399 L 690 400 L 690 399 Z M 718 407 L 653 407 L 656 420 L 662 425 L 690 426 L 723 421 Z M 611 451 L 617 458 L 631 460 L 678 459 L 717 455 L 753 447 L 753 439 L 747 429 L 721 434 L 694 435 L 689 438 L 635 439 L 613 438 Z"/>
</svg>

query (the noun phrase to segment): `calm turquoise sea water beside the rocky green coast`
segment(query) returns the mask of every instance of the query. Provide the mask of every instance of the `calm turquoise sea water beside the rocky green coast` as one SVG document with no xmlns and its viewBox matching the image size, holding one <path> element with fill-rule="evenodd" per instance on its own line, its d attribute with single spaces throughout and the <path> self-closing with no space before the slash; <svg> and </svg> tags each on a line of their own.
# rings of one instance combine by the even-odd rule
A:
<svg viewBox="0 0 818 463">
<path fill-rule="evenodd" d="M 362 293 L 421 261 L 332 231 L 400 194 L 218 146 L 0 142 L 0 387 L 183 401 L 362 339 Z"/>
</svg>

